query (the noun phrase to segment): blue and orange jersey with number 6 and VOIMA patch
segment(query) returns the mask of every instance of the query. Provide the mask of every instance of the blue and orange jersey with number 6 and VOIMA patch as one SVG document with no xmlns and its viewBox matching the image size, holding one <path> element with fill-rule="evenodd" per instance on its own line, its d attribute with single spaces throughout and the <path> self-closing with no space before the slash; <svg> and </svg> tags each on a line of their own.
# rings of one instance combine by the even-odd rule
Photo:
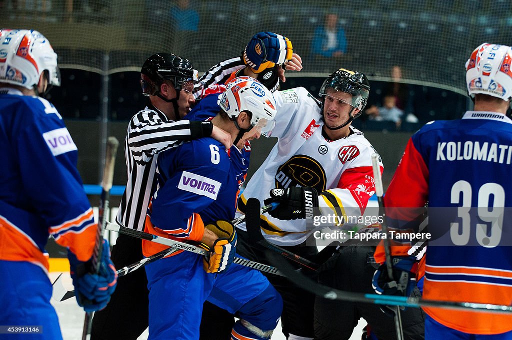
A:
<svg viewBox="0 0 512 340">
<path fill-rule="evenodd" d="M 199 241 L 205 223 L 234 218 L 239 190 L 237 171 L 222 143 L 207 137 L 161 152 L 157 178 L 146 232 Z M 142 241 L 144 256 L 164 248 Z"/>
</svg>

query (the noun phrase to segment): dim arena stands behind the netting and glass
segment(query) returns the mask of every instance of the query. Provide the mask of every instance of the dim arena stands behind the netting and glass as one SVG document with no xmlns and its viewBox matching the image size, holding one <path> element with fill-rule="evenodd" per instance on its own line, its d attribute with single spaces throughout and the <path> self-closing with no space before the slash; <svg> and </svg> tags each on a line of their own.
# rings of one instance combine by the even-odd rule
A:
<svg viewBox="0 0 512 340">
<path fill-rule="evenodd" d="M 180 30 L 178 3 L 189 3 L 197 27 Z M 385 187 L 410 135 L 433 119 L 455 119 L 471 107 L 466 96 L 464 63 L 480 43 L 512 43 L 512 8 L 508 0 L 0 0 L 0 26 L 31 28 L 52 43 L 59 56 L 62 85 L 50 101 L 65 118 L 78 146 L 78 169 L 86 185 L 98 185 L 105 141 L 122 143 L 128 120 L 145 101 L 139 71 L 160 51 L 190 59 L 200 73 L 240 55 L 251 36 L 272 31 L 289 37 L 303 58 L 300 73 L 288 72 L 282 89 L 304 86 L 317 95 L 323 79 L 339 67 L 370 79 L 369 105 L 379 105 L 391 81 L 407 84 L 406 114 L 417 123 L 358 119 L 354 125 L 382 156 Z M 327 13 L 337 14 L 347 51 L 337 59 L 313 56 L 311 41 Z M 183 27 L 182 27 L 183 28 Z M 391 78 L 398 65 L 402 78 Z M 256 141 L 249 176 L 264 160 L 274 139 Z M 126 183 L 123 148 L 115 168 L 116 193 Z M 89 189 L 90 193 L 94 190 Z M 119 203 L 112 196 L 111 206 Z M 93 205 L 98 196 L 90 195 Z M 51 244 L 51 243 L 50 243 Z M 61 256 L 49 246 L 52 256 Z"/>
</svg>

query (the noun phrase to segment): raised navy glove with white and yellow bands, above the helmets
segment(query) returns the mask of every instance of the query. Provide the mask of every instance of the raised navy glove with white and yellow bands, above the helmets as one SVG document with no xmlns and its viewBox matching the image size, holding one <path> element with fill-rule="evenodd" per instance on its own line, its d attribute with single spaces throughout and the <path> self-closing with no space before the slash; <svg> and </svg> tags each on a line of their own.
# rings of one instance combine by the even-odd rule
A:
<svg viewBox="0 0 512 340">
<path fill-rule="evenodd" d="M 252 36 L 245 47 L 242 59 L 252 72 L 260 73 L 275 64 L 291 60 L 293 48 L 290 39 L 272 32 L 260 32 Z"/>
</svg>

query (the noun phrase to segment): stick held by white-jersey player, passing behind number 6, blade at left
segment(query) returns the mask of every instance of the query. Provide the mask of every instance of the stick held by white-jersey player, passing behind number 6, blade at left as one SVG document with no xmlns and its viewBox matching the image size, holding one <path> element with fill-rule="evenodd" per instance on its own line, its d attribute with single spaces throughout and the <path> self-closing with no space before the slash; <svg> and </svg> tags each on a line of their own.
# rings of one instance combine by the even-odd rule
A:
<svg viewBox="0 0 512 340">
<path fill-rule="evenodd" d="M 261 213 L 265 213 L 267 211 L 269 211 L 272 207 L 274 207 L 273 204 L 270 204 L 268 206 L 265 206 L 265 207 L 262 207 L 261 208 Z M 233 225 L 238 225 L 240 223 L 242 223 L 243 221 L 245 221 L 245 215 L 242 215 L 234 220 L 231 221 L 231 223 L 233 223 Z M 178 249 L 177 248 L 167 248 L 157 254 L 154 254 L 150 257 L 146 257 L 146 258 L 143 258 L 142 260 L 140 261 L 137 261 L 135 263 L 132 263 L 130 265 L 127 265 L 125 267 L 122 267 L 121 269 L 118 269 L 116 271 L 117 273 L 117 277 L 121 277 L 121 276 L 125 276 L 127 274 L 130 274 L 132 273 L 132 271 L 134 270 L 137 270 L 143 266 L 145 266 L 146 264 L 150 264 L 156 260 L 159 260 L 161 258 L 164 258 L 166 257 L 167 255 L 170 255 L 170 254 L 173 254 L 175 252 L 177 252 Z M 69 298 L 72 298 L 75 296 L 75 291 L 74 290 L 67 290 L 64 285 L 62 284 L 62 279 L 61 279 L 61 276 L 62 276 L 62 273 L 57 277 L 57 279 L 55 279 L 55 281 L 52 283 L 52 286 L 53 286 L 53 294 L 52 294 L 52 299 L 54 299 L 55 301 L 65 301 L 65 300 L 68 300 Z"/>
</svg>

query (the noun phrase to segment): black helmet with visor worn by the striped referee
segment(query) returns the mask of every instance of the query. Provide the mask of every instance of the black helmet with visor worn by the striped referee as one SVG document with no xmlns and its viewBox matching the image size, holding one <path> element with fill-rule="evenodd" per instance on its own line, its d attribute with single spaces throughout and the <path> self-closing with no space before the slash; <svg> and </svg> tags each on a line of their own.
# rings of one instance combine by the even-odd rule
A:
<svg viewBox="0 0 512 340">
<path fill-rule="evenodd" d="M 142 93 L 145 96 L 158 95 L 164 80 L 173 82 L 176 90 L 193 91 L 198 82 L 198 73 L 192 63 L 172 53 L 157 53 L 147 58 L 140 70 Z"/>
</svg>

